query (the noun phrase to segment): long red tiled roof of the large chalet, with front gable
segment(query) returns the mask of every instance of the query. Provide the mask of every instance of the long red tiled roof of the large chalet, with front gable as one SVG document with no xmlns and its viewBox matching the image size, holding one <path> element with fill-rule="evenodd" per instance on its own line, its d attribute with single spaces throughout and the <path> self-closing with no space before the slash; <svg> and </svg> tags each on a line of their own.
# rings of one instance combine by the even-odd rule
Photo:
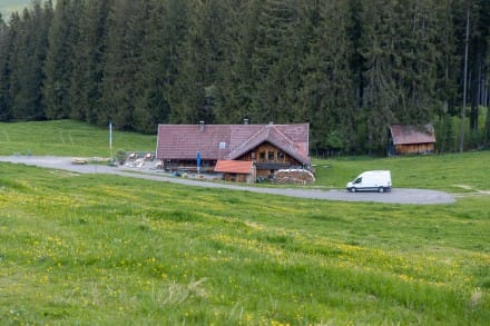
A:
<svg viewBox="0 0 490 326">
<path fill-rule="evenodd" d="M 308 125 L 159 125 L 158 159 L 235 159 L 264 141 L 308 164 Z"/>
</svg>

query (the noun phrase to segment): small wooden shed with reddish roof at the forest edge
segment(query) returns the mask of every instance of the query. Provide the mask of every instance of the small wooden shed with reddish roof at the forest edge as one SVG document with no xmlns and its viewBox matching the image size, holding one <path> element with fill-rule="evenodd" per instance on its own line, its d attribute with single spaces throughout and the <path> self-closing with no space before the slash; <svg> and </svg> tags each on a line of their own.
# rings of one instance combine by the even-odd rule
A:
<svg viewBox="0 0 490 326">
<path fill-rule="evenodd" d="M 435 150 L 435 134 L 432 125 L 401 126 L 390 128 L 390 154 L 431 154 Z"/>
</svg>

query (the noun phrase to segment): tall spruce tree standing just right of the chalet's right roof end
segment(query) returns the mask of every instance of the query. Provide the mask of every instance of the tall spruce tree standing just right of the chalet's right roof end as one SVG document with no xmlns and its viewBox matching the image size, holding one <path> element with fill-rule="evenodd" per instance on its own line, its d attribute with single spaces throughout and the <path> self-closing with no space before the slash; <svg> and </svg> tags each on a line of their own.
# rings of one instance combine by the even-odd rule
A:
<svg viewBox="0 0 490 326">
<path fill-rule="evenodd" d="M 355 90 L 350 68 L 346 1 L 315 2 L 308 10 L 311 37 L 303 61 L 303 106 L 308 108 L 312 147 L 349 150 L 355 147 Z M 342 144 L 339 141 L 342 140 Z"/>
</svg>

